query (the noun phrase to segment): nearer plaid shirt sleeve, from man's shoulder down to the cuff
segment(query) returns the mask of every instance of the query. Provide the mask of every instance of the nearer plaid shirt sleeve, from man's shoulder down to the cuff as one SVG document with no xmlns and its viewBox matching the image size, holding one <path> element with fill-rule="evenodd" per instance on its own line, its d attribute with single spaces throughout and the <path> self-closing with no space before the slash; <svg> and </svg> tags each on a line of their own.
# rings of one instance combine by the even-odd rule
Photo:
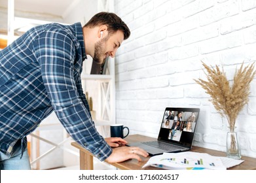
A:
<svg viewBox="0 0 256 183">
<path fill-rule="evenodd" d="M 75 44 L 71 36 L 64 30 L 45 31 L 34 42 L 34 51 L 58 119 L 75 141 L 105 160 L 112 149 L 96 130 L 85 96 L 79 95 L 82 88 L 77 88 L 81 84 L 77 85 L 73 76 Z"/>
</svg>

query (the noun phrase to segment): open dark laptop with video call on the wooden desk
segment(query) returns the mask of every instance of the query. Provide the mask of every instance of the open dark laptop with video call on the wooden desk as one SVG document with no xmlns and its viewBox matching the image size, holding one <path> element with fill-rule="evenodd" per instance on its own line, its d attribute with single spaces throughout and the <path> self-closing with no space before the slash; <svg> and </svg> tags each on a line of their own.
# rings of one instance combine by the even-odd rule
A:
<svg viewBox="0 0 256 183">
<path fill-rule="evenodd" d="M 150 142 L 134 142 L 128 146 L 138 146 L 150 156 L 190 150 L 199 112 L 200 108 L 167 107 L 164 110 L 158 139 Z"/>
</svg>

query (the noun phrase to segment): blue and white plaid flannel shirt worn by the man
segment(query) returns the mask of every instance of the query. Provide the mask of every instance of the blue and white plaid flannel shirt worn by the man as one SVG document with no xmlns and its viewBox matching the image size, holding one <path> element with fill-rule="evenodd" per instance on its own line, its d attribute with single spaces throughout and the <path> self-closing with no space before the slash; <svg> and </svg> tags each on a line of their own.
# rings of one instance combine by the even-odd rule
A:
<svg viewBox="0 0 256 183">
<path fill-rule="evenodd" d="M 112 153 L 82 92 L 84 59 L 80 23 L 34 27 L 0 51 L 1 152 L 10 156 L 19 140 L 24 151 L 26 136 L 54 110 L 69 135 L 98 159 Z"/>
</svg>

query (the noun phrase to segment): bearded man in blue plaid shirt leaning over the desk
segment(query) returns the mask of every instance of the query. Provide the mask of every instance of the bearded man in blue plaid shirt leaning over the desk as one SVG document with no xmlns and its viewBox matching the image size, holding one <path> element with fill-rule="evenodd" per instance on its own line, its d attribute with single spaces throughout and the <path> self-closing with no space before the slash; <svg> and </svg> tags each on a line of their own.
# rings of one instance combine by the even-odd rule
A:
<svg viewBox="0 0 256 183">
<path fill-rule="evenodd" d="M 0 169 L 30 169 L 26 136 L 53 110 L 69 135 L 101 161 L 148 156 L 119 147 L 123 139 L 101 137 L 81 86 L 86 54 L 103 63 L 129 36 L 119 16 L 100 12 L 83 27 L 34 27 L 0 51 Z"/>
</svg>

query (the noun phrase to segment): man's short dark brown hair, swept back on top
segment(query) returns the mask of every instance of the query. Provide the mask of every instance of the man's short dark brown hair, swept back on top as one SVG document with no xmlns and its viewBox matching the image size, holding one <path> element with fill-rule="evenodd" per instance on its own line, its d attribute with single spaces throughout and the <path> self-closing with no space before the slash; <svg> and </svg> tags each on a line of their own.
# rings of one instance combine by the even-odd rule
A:
<svg viewBox="0 0 256 183">
<path fill-rule="evenodd" d="M 89 22 L 87 22 L 84 27 L 96 27 L 98 25 L 107 25 L 107 30 L 109 33 L 115 33 L 118 30 L 124 33 L 124 40 L 130 37 L 130 29 L 128 26 L 121 20 L 117 14 L 112 12 L 99 12 L 94 15 Z"/>
</svg>

